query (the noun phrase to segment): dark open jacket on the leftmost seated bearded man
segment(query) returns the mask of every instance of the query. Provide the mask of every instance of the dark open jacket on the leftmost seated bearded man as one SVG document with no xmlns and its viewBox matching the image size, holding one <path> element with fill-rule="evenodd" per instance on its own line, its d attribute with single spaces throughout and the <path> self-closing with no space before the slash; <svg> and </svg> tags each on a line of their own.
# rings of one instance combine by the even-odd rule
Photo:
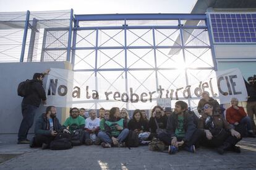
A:
<svg viewBox="0 0 256 170">
<path fill-rule="evenodd" d="M 59 119 L 55 117 L 53 119 L 53 130 L 58 131 L 62 129 L 64 129 L 64 127 L 59 123 Z M 35 135 L 51 135 L 51 131 L 49 130 L 49 121 L 46 118 L 46 114 L 41 114 L 41 116 L 36 120 Z"/>
</svg>

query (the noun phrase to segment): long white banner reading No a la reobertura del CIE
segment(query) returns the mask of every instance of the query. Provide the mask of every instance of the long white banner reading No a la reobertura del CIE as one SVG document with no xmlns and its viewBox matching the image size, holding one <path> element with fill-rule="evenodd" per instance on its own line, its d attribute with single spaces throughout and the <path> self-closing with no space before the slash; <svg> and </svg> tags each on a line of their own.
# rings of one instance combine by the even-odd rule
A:
<svg viewBox="0 0 256 170">
<path fill-rule="evenodd" d="M 239 69 L 213 72 L 207 80 L 192 85 L 186 85 L 184 81 L 184 87 L 168 86 L 167 82 L 155 87 L 156 80 L 147 79 L 147 87 L 140 83 L 135 88 L 132 81 L 106 77 L 95 77 L 95 72 L 82 73 L 53 68 L 46 83 L 46 105 L 93 108 L 93 104 L 100 104 L 98 108 L 109 109 L 113 106 L 126 107 L 128 104 L 129 109 L 151 109 L 157 103 L 171 106 L 177 100 L 195 100 L 198 103 L 203 91 L 208 91 L 221 104 L 229 103 L 233 97 L 239 101 L 247 100 L 244 79 Z M 140 88 L 142 86 L 145 88 Z M 165 98 L 167 100 L 161 100 Z"/>
</svg>

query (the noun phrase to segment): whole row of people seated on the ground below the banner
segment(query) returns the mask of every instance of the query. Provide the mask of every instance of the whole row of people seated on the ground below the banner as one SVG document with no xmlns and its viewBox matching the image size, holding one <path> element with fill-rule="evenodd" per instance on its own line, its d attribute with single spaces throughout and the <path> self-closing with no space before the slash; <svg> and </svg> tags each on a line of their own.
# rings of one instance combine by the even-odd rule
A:
<svg viewBox="0 0 256 170">
<path fill-rule="evenodd" d="M 208 95 L 208 93 L 206 93 Z M 221 155 L 224 151 L 241 152 L 236 146 L 242 137 L 254 137 L 252 120 L 244 109 L 237 106 L 238 100 L 231 100 L 231 107 L 226 110 L 226 119 L 221 113 L 218 101 L 203 98 L 198 104 L 200 118 L 193 111 L 188 110 L 184 101 L 177 101 L 173 113 L 164 112 L 160 106 L 151 110 L 148 120 L 145 110 L 136 109 L 131 119 L 127 109 L 111 108 L 99 110 L 90 109 L 85 117 L 85 109 L 70 109 L 70 117 L 63 125 L 56 117 L 56 108 L 48 106 L 46 113 L 42 114 L 35 124 L 35 137 L 30 147 L 40 146 L 49 148 L 51 141 L 61 130 L 72 134 L 74 130 L 85 131 L 83 143 L 85 145 L 101 145 L 103 148 L 125 147 L 129 131 L 137 133 L 140 142 L 158 138 L 164 142 L 168 153 L 177 153 L 187 150 L 195 153 L 200 145 L 215 148 Z M 68 128 L 68 129 L 67 129 Z"/>
</svg>

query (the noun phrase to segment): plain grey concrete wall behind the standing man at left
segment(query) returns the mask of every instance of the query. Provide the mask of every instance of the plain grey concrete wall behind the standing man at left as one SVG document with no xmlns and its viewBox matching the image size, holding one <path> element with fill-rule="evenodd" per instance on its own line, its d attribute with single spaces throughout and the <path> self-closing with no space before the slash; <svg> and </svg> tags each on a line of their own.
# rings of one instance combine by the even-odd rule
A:
<svg viewBox="0 0 256 170">
<path fill-rule="evenodd" d="M 17 134 L 22 121 L 22 97 L 17 95 L 20 82 L 32 79 L 35 72 L 43 72 L 49 68 L 71 69 L 69 62 L 15 62 L 0 63 L 0 134 Z M 44 79 L 44 87 L 47 77 Z M 40 105 L 35 119 L 45 113 L 45 107 Z M 57 108 L 57 117 L 60 121 L 66 118 L 67 110 Z M 35 123 L 34 123 L 35 124 Z M 34 126 L 34 125 L 33 125 Z M 33 127 L 30 129 L 33 133 Z"/>
</svg>

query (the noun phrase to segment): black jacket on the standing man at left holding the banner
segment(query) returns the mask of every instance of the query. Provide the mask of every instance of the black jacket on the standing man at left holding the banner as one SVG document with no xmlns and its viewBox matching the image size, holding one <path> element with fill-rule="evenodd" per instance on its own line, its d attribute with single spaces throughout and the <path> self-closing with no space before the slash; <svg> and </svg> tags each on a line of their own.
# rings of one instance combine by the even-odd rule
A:
<svg viewBox="0 0 256 170">
<path fill-rule="evenodd" d="M 23 98 L 22 103 L 38 107 L 41 100 L 46 100 L 43 82 L 41 80 L 33 79 L 32 83 L 30 84 L 30 93 Z"/>
</svg>

